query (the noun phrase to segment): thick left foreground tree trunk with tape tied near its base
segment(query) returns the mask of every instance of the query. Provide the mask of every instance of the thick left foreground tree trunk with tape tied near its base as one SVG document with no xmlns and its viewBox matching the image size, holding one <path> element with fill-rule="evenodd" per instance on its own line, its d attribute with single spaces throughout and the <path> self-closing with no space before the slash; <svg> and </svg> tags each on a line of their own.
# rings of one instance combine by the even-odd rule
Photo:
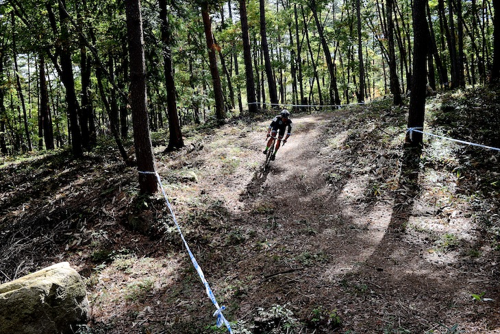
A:
<svg viewBox="0 0 500 334">
<path fill-rule="evenodd" d="M 125 0 L 127 40 L 130 54 L 130 106 L 134 128 L 139 188 L 141 193 L 155 193 L 158 182 L 154 174 L 155 159 L 149 135 L 146 95 L 146 61 L 142 36 L 142 15 L 139 0 Z"/>
</svg>

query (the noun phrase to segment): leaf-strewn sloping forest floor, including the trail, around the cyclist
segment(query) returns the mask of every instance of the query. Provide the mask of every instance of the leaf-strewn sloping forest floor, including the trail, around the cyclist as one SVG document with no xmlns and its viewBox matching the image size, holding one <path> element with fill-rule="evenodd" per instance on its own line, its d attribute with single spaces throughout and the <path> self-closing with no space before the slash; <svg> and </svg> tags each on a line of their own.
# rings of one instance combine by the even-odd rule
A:
<svg viewBox="0 0 500 334">
<path fill-rule="evenodd" d="M 425 130 L 499 147 L 500 97 L 427 100 Z M 157 171 L 233 333 L 500 333 L 499 152 L 403 145 L 390 100 L 293 112 L 263 171 L 270 118 L 185 128 Z M 0 160 L 0 282 L 68 261 L 92 319 L 79 333 L 227 333 L 161 193 L 114 145 Z M 3 162 L 3 163 L 2 163 Z"/>
</svg>

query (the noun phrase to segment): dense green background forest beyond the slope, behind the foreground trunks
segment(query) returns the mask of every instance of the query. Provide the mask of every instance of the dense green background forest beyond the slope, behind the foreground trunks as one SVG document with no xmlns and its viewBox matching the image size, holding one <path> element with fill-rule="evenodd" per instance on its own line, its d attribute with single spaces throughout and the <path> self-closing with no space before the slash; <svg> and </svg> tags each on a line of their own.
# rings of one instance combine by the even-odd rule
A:
<svg viewBox="0 0 500 334">
<path fill-rule="evenodd" d="M 141 4 L 148 126 L 170 132 L 171 150 L 182 126 L 272 104 L 336 108 L 391 93 L 401 104 L 414 76 L 436 91 L 498 75 L 493 1 L 429 1 L 418 73 L 410 1 L 160 2 Z M 127 160 L 125 5 L 0 1 L 0 30 L 1 152 L 71 145 L 79 156 L 112 136 Z"/>
</svg>

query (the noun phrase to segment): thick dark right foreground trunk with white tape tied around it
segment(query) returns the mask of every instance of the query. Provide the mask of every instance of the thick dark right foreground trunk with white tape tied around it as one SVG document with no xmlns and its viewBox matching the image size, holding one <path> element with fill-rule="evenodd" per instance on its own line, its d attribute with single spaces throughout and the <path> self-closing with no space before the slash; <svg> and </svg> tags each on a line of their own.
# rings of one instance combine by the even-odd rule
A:
<svg viewBox="0 0 500 334">
<path fill-rule="evenodd" d="M 426 73 L 425 58 L 427 57 L 427 21 L 425 19 L 425 1 L 414 0 L 413 5 L 413 76 L 410 93 L 410 110 L 408 115 L 408 128 L 423 130 L 425 110 L 425 83 Z M 407 142 L 418 145 L 422 142 L 422 134 L 413 132 L 412 138 L 407 134 Z"/>
</svg>

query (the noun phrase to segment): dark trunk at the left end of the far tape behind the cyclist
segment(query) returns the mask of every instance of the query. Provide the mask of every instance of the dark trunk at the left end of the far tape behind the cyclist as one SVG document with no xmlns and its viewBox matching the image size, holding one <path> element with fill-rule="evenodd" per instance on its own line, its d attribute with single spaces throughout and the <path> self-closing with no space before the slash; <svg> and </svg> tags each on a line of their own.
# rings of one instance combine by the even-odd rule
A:
<svg viewBox="0 0 500 334">
<path fill-rule="evenodd" d="M 240 0 L 240 22 L 243 40 L 243 58 L 245 60 L 245 75 L 247 76 L 247 102 L 249 112 L 257 112 L 257 101 L 255 100 L 255 80 L 253 79 L 252 57 L 250 47 L 250 36 L 247 19 L 247 1 Z"/>
</svg>

